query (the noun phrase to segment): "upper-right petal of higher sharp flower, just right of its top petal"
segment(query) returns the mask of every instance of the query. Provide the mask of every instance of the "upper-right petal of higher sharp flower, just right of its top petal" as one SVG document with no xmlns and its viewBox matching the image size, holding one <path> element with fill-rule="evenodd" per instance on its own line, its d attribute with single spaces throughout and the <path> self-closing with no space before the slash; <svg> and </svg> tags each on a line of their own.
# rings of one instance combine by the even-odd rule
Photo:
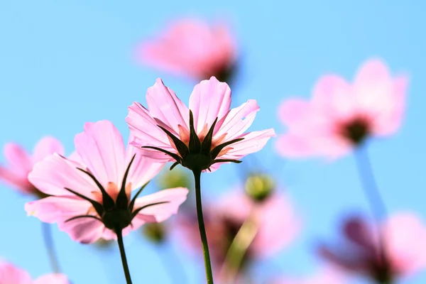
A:
<svg viewBox="0 0 426 284">
<path fill-rule="evenodd" d="M 226 133 L 226 140 L 229 141 L 241 135 L 249 129 L 258 110 L 258 104 L 254 99 L 249 99 L 246 103 L 241 104 L 240 107 L 231 109 L 224 119 L 218 121 L 214 131 L 214 138 Z"/>
</svg>

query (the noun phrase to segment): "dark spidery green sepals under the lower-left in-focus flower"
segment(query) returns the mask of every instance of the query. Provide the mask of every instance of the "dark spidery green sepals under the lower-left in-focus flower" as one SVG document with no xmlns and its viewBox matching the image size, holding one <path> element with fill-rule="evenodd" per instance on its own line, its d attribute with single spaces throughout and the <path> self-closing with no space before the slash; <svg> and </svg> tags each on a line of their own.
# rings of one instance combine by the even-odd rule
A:
<svg viewBox="0 0 426 284">
<path fill-rule="evenodd" d="M 136 195 L 133 197 L 133 199 L 129 200 L 129 197 L 126 193 L 126 180 L 127 175 L 129 175 L 129 170 L 131 167 L 131 164 L 133 163 L 133 160 L 135 158 L 135 155 L 133 155 L 133 158 L 131 158 L 131 161 L 126 169 L 126 173 L 124 173 L 123 182 L 121 183 L 121 189 L 116 197 L 116 200 L 114 200 L 105 190 L 105 188 L 101 185 L 101 183 L 97 180 L 97 178 L 94 177 L 92 173 L 90 173 L 88 170 L 84 170 L 82 168 L 77 168 L 77 170 L 81 170 L 83 173 L 89 175 L 89 177 L 96 183 L 97 187 L 99 187 L 99 190 L 102 193 L 102 202 L 97 202 L 95 200 L 90 199 L 89 197 L 86 197 L 78 192 L 75 192 L 75 190 L 71 190 L 70 188 L 65 187 L 65 190 L 72 192 L 74 195 L 77 195 L 78 197 L 82 198 L 83 200 L 87 200 L 92 204 L 92 207 L 97 212 L 98 216 L 94 215 L 79 215 L 72 217 L 70 219 L 67 219 L 65 222 L 70 222 L 75 219 L 81 219 L 81 218 L 92 218 L 97 219 L 99 222 L 102 222 L 108 229 L 118 231 L 126 228 L 126 226 L 131 225 L 131 222 L 134 217 L 142 210 L 147 207 L 151 207 L 153 205 L 163 204 L 167 202 L 155 202 L 152 204 L 147 204 L 143 207 L 139 207 L 137 209 L 134 209 L 134 205 L 136 202 L 136 198 L 138 195 L 142 192 L 142 190 L 148 185 L 143 185 L 138 192 L 136 192 Z"/>
</svg>

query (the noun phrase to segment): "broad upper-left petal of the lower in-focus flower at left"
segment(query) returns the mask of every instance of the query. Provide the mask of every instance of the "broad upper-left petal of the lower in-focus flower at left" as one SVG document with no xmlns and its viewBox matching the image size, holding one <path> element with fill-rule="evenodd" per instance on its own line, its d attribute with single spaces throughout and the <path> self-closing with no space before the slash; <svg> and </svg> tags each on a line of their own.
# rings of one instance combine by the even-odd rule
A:
<svg viewBox="0 0 426 284">
<path fill-rule="evenodd" d="M 38 190 L 48 195 L 75 196 L 65 190 L 67 187 L 82 195 L 92 197 L 92 191 L 99 191 L 97 185 L 77 168 L 84 168 L 84 165 L 67 160 L 55 153 L 36 163 L 33 171 L 28 175 L 28 180 Z"/>
</svg>

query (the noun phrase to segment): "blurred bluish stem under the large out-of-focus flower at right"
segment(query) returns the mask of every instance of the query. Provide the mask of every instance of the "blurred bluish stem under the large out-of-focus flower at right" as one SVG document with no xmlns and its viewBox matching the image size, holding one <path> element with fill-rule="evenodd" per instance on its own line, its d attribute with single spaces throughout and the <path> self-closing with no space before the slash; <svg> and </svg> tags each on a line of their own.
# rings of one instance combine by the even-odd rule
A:
<svg viewBox="0 0 426 284">
<path fill-rule="evenodd" d="M 380 191 L 378 190 L 376 179 L 374 178 L 373 168 L 371 167 L 370 158 L 368 157 L 368 151 L 366 146 L 360 146 L 356 150 L 355 154 L 356 165 L 358 168 L 359 179 L 361 180 L 362 187 L 364 189 L 364 195 L 370 206 L 373 218 L 376 223 L 376 230 L 378 234 L 378 253 L 380 254 L 382 264 L 388 266 L 386 257 L 386 249 L 381 232 L 381 222 L 386 218 L 387 210 L 385 202 L 381 197 Z M 385 284 L 390 284 L 386 282 Z"/>
</svg>

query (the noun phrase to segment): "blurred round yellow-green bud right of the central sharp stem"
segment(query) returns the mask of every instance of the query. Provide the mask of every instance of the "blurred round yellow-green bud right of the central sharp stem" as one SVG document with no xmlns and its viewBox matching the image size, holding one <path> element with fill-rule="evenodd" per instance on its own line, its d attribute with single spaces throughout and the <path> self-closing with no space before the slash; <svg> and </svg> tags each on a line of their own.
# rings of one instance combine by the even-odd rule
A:
<svg viewBox="0 0 426 284">
<path fill-rule="evenodd" d="M 246 180 L 244 190 L 256 202 L 262 202 L 271 195 L 275 188 L 275 182 L 270 175 L 253 174 Z"/>
</svg>

